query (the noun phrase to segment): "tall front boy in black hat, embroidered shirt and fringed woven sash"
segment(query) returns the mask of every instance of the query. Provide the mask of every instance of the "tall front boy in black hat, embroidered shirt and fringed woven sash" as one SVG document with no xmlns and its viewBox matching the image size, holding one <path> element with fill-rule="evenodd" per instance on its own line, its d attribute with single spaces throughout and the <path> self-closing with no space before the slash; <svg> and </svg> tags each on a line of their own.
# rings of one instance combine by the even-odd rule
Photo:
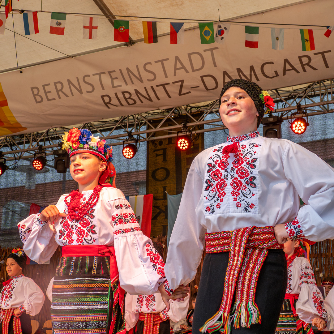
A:
<svg viewBox="0 0 334 334">
<path fill-rule="evenodd" d="M 274 106 L 255 82 L 226 83 L 219 114 L 227 142 L 201 152 L 189 169 L 165 288 L 191 282 L 206 247 L 192 333 L 273 334 L 287 285 L 282 243 L 334 237 L 334 170 L 300 145 L 260 136 Z"/>
</svg>

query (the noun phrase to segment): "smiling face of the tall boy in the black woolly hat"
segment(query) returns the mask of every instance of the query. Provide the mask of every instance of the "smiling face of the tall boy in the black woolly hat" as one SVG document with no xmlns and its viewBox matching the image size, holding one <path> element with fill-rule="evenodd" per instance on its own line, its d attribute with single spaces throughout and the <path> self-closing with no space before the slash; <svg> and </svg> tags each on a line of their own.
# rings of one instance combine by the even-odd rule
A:
<svg viewBox="0 0 334 334">
<path fill-rule="evenodd" d="M 240 87 L 229 88 L 221 97 L 219 114 L 230 136 L 256 131 L 259 113 L 252 98 Z"/>
</svg>

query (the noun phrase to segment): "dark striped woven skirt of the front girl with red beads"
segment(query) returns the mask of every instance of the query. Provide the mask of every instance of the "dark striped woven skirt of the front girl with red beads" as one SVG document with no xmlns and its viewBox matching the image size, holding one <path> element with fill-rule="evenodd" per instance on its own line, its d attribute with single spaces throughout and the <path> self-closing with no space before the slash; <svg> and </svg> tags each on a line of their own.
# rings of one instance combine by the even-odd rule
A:
<svg viewBox="0 0 334 334">
<path fill-rule="evenodd" d="M 60 258 L 52 285 L 53 333 L 108 334 L 112 315 L 116 323 L 111 333 L 124 329 L 120 307 L 112 307 L 118 280 L 111 285 L 109 258 Z"/>
</svg>

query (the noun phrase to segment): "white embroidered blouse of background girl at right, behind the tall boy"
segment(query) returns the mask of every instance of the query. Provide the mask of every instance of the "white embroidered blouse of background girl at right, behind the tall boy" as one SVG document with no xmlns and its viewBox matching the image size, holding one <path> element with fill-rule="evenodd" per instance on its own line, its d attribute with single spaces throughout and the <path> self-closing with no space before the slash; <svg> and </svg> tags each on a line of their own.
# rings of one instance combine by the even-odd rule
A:
<svg viewBox="0 0 334 334">
<path fill-rule="evenodd" d="M 296 258 L 289 266 L 286 293 L 299 294 L 296 313 L 301 320 L 311 323 L 316 315 L 327 318 L 322 294 L 317 288 L 312 267 L 307 259 Z"/>
</svg>

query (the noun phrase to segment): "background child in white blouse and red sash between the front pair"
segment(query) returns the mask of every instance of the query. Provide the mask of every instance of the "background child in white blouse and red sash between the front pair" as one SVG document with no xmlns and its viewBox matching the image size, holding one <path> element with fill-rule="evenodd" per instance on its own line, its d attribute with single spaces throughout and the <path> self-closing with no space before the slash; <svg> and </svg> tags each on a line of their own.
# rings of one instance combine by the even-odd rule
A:
<svg viewBox="0 0 334 334">
<path fill-rule="evenodd" d="M 161 242 L 153 241 L 154 248 L 162 257 Z M 166 311 L 166 305 L 160 293 L 152 295 L 125 297 L 125 322 L 129 331 L 137 324 L 137 334 L 170 334 L 170 321 L 178 322 L 187 314 L 189 296 L 184 301 L 170 302 L 170 309 Z"/>
</svg>

